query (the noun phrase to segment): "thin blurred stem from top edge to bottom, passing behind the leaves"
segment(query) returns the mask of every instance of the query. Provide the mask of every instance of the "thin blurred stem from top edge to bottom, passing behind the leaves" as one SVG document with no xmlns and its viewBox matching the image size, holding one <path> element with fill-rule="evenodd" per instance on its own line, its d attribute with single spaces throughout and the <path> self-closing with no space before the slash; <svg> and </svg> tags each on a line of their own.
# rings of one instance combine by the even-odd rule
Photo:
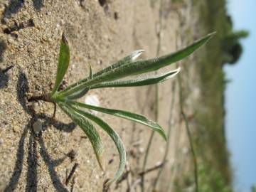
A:
<svg viewBox="0 0 256 192">
<path fill-rule="evenodd" d="M 156 49 L 156 56 L 159 56 L 160 53 L 160 49 L 161 49 L 161 29 L 162 29 L 162 10 L 163 10 L 163 0 L 160 0 L 160 7 L 159 7 L 159 33 L 158 33 L 158 45 L 157 45 L 157 49 Z M 156 72 L 157 74 L 157 72 Z M 156 105 L 156 109 L 155 109 L 155 121 L 158 122 L 158 116 L 159 116 L 159 85 L 156 84 L 156 95 L 155 95 L 155 105 Z M 146 153 L 145 153 L 145 157 L 144 157 L 144 161 L 143 161 L 143 167 L 142 167 L 142 172 L 146 170 L 146 161 L 148 159 L 149 156 L 149 149 L 151 147 L 151 143 L 153 141 L 154 138 L 154 130 L 151 131 L 151 135 L 149 137 L 149 142 L 147 144 L 146 147 Z M 142 192 L 144 192 L 144 174 L 142 175 L 142 182 L 141 182 L 141 187 L 142 187 Z"/>
</svg>

